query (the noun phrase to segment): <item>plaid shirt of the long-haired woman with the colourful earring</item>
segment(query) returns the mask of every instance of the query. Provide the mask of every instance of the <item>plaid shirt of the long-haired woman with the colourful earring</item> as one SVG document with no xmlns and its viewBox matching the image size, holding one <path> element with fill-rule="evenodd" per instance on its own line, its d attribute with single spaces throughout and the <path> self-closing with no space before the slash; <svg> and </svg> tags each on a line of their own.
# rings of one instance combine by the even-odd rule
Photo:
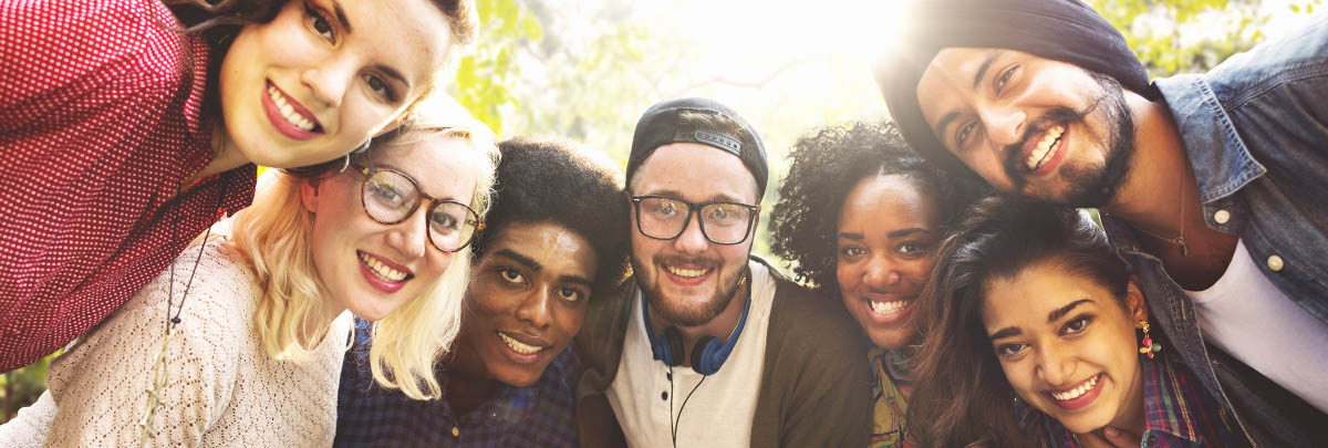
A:
<svg viewBox="0 0 1328 448">
<path fill-rule="evenodd" d="M 1203 390 L 1194 375 L 1174 358 L 1139 357 L 1143 367 L 1143 436 L 1141 447 L 1244 447 L 1235 420 Z M 1016 403 L 1020 424 L 1029 429 L 1033 445 L 1078 448 L 1074 435 L 1046 414 L 1024 402 Z"/>
</svg>

